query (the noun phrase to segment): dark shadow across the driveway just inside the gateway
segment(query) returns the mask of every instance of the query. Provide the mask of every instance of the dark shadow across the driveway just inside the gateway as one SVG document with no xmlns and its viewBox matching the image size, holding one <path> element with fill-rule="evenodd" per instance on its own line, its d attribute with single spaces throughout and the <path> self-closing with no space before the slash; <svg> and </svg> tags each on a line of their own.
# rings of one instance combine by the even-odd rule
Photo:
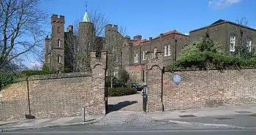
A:
<svg viewBox="0 0 256 135">
<path fill-rule="evenodd" d="M 136 103 L 138 103 L 138 101 L 121 101 L 118 104 L 108 104 L 108 113 L 117 111 L 121 108 L 127 107 L 132 104 L 136 104 Z"/>
</svg>

